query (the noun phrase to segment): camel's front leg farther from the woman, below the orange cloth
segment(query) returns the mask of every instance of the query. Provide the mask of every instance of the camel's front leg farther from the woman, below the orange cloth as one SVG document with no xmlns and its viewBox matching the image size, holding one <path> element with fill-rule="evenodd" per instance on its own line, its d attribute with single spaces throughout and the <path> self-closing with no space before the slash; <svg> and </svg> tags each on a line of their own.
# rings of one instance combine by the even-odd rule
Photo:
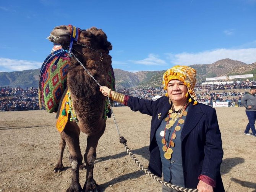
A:
<svg viewBox="0 0 256 192">
<path fill-rule="evenodd" d="M 72 170 L 72 182 L 70 187 L 66 190 L 67 192 L 81 192 L 83 190 L 79 184 L 79 165 L 81 165 L 83 160 L 79 146 L 79 134 L 80 130 L 78 126 L 75 123 L 68 122 L 63 131 L 63 136 L 70 151 L 69 160 Z"/>
</svg>

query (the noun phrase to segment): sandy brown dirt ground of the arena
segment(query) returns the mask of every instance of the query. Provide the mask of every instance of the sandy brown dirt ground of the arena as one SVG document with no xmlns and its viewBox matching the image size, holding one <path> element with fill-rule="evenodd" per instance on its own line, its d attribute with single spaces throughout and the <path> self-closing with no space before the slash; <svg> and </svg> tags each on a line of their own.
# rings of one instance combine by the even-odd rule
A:
<svg viewBox="0 0 256 192">
<path fill-rule="evenodd" d="M 133 112 L 128 107 L 113 108 L 120 134 L 134 155 L 147 167 L 149 160 L 150 116 Z M 243 134 L 248 123 L 244 107 L 216 108 L 222 133 L 224 158 L 222 180 L 227 192 L 256 192 L 256 138 Z M 0 112 L 0 191 L 64 192 L 71 182 L 69 152 L 63 157 L 65 170 L 53 173 L 59 157 L 59 134 L 55 114 L 47 111 Z M 85 151 L 86 135 L 80 145 Z M 86 170 L 80 171 L 83 187 Z M 102 191 L 161 191 L 161 185 L 127 155 L 119 143 L 113 118 L 99 140 L 94 179 Z"/>
</svg>

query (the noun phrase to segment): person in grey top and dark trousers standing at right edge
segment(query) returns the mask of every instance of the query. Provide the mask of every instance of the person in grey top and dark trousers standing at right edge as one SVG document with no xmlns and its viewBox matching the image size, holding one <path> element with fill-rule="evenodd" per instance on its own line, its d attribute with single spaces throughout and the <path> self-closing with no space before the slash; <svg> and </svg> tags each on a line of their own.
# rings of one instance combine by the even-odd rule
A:
<svg viewBox="0 0 256 192">
<path fill-rule="evenodd" d="M 256 119 L 256 86 L 251 86 L 250 93 L 245 94 L 245 96 L 241 100 L 241 104 L 245 107 L 245 113 L 248 117 L 249 123 L 245 129 L 245 135 L 253 135 L 256 137 L 255 130 L 255 119 Z M 250 133 L 253 131 L 253 133 Z"/>
</svg>

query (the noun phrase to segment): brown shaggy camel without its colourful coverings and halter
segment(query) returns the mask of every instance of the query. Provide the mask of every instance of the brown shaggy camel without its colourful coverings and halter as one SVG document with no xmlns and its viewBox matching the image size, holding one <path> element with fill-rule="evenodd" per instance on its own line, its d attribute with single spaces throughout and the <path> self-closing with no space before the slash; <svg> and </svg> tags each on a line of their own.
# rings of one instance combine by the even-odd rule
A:
<svg viewBox="0 0 256 192">
<path fill-rule="evenodd" d="M 87 30 L 79 30 L 78 42 L 74 42 L 71 65 L 68 68 L 67 87 L 72 98 L 73 108 L 76 112 L 78 123 L 68 121 L 65 129 L 61 132 L 61 154 L 54 171 L 61 171 L 62 155 L 65 145 L 68 144 L 70 151 L 70 163 L 72 170 L 72 182 L 67 192 L 98 192 L 99 186 L 93 178 L 94 161 L 96 160 L 96 148 L 98 141 L 105 131 L 106 120 L 103 118 L 105 97 L 99 92 L 99 85 L 107 86 L 108 71 L 112 69 L 109 51 L 112 45 L 107 41 L 106 34 L 96 27 Z M 48 39 L 60 44 L 64 49 L 70 46 L 71 26 L 58 26 L 53 29 Z M 76 60 L 76 58 L 81 62 Z M 92 77 L 85 71 L 91 73 Z M 64 102 L 64 101 L 63 101 Z M 60 105 L 62 105 L 62 101 Z M 58 112 L 59 113 L 59 112 Z M 79 184 L 79 167 L 83 168 L 83 156 L 79 146 L 79 134 L 87 134 L 87 146 L 84 153 L 86 163 L 86 182 Z"/>
</svg>

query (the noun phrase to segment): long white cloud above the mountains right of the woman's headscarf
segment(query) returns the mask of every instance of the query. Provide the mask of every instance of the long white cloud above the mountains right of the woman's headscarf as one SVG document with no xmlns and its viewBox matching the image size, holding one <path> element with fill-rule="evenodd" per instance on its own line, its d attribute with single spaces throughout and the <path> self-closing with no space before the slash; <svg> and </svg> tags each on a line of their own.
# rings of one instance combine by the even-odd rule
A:
<svg viewBox="0 0 256 192">
<path fill-rule="evenodd" d="M 174 65 L 210 64 L 225 58 L 250 64 L 256 61 L 256 48 L 216 49 L 199 53 L 167 53 L 166 55 Z"/>
</svg>

